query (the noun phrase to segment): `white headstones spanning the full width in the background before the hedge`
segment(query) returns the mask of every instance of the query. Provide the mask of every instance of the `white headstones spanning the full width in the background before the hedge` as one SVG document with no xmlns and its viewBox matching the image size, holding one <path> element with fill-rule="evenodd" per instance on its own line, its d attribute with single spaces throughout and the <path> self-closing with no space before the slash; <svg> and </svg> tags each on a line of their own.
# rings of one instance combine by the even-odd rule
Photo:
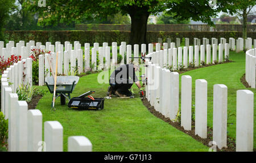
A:
<svg viewBox="0 0 256 163">
<path fill-rule="evenodd" d="M 133 62 L 139 62 L 139 58 L 131 58 L 132 52 L 134 57 L 139 57 L 139 50 L 141 52 L 151 54 L 153 63 L 160 64 L 163 66 L 172 66 L 174 70 L 179 68 L 188 68 L 190 64 L 195 64 L 195 66 L 199 66 L 201 64 L 214 64 L 215 62 L 222 62 L 226 57 L 229 56 L 229 49 L 235 49 L 235 39 L 232 37 L 229 38 L 229 44 L 226 43 L 225 38 L 220 39 L 220 44 L 218 44 L 218 40 L 216 38 L 211 38 L 211 44 L 209 44 L 209 39 L 203 38 L 203 45 L 200 45 L 200 39 L 194 38 L 195 46 L 189 46 L 189 39 L 185 38 L 185 47 L 181 48 L 180 39 L 176 39 L 175 43 L 171 42 L 171 39 L 167 39 L 167 43 L 156 43 L 156 44 L 141 44 L 141 48 L 138 44 L 135 45 L 126 45 L 126 42 L 121 42 L 119 45 L 119 55 L 122 56 L 121 64 L 128 64 Z M 246 47 L 251 47 L 252 39 L 246 39 Z M 247 44 L 248 43 L 248 44 Z M 0 55 L 5 58 L 10 55 L 22 56 L 22 58 L 27 58 L 30 56 L 31 49 L 43 49 L 46 51 L 51 51 L 51 53 L 46 54 L 45 56 L 39 56 L 39 85 L 44 85 L 44 77 L 51 76 L 50 66 L 46 56 L 49 56 L 51 60 L 51 64 L 53 67 L 53 72 L 55 72 L 55 60 L 56 60 L 56 52 L 59 52 L 58 57 L 58 74 L 68 75 L 71 72 L 75 72 L 75 68 L 77 68 L 77 73 L 86 72 L 88 70 L 102 70 L 109 69 L 112 66 L 117 65 L 117 43 L 112 43 L 112 59 L 110 58 L 110 47 L 108 43 L 102 43 L 102 47 L 100 47 L 99 43 L 94 43 L 93 48 L 90 48 L 89 43 L 84 44 L 84 51 L 81 49 L 81 44 L 79 41 L 74 41 L 73 45 L 69 41 L 64 41 L 64 45 L 60 43 L 60 41 L 56 41 L 55 44 L 51 44 L 51 42 L 46 42 L 46 45 L 42 43 L 35 43 L 34 40 L 26 43 L 26 47 L 24 46 L 24 41 L 19 41 L 16 43 L 16 47 L 14 47 L 14 41 L 9 41 L 6 44 L 6 48 L 3 48 L 3 42 L 0 41 Z M 256 45 L 256 39 L 254 40 L 254 46 Z M 155 47 L 155 49 L 154 49 Z M 241 51 L 243 47 L 243 39 L 237 39 L 237 52 Z M 133 48 L 133 51 L 132 51 Z M 147 49 L 148 48 L 148 49 Z M 2 49 L 2 51 L 1 51 Z M 217 49 L 222 49 L 218 51 L 218 61 L 217 61 Z M 223 52 L 225 49 L 225 52 Z M 64 51 L 65 50 L 65 51 Z M 167 50 L 167 51 L 165 51 Z M 206 58 L 205 58 L 206 53 Z M 224 55 L 225 53 L 225 55 Z M 126 62 L 125 62 L 126 55 Z M 223 56 L 224 55 L 224 56 Z M 156 57 L 157 56 L 157 57 Z M 163 57 L 158 57 L 163 56 Z M 98 65 L 97 65 L 98 58 Z M 199 61 L 200 58 L 200 61 Z M 105 59 L 105 60 L 104 60 Z M 163 61 L 162 61 L 163 60 Z M 163 65 L 162 65 L 163 64 Z M 92 68 L 92 69 L 90 69 Z"/>
</svg>

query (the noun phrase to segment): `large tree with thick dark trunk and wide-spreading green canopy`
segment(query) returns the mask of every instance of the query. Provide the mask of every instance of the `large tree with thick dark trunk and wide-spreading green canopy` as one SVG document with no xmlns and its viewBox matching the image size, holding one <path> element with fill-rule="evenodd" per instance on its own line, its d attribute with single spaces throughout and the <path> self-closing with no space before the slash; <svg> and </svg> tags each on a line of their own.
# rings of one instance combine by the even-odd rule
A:
<svg viewBox="0 0 256 163">
<path fill-rule="evenodd" d="M 214 7 L 208 0 L 55 0 L 46 1 L 46 7 L 39 7 L 38 1 L 27 1 L 27 6 L 39 12 L 39 24 L 57 24 L 58 22 L 78 22 L 81 19 L 93 19 L 121 12 L 131 17 L 130 44 L 146 43 L 147 19 L 149 15 L 168 9 L 179 19 L 201 20 L 213 24 L 210 16 L 216 15 L 225 7 L 226 1 L 218 0 Z"/>
</svg>

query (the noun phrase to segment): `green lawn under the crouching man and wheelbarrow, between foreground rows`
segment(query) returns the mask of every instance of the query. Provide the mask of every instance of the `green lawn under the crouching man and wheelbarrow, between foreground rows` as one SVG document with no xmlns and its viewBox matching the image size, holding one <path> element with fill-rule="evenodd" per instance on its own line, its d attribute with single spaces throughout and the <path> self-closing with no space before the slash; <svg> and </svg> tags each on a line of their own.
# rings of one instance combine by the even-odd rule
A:
<svg viewBox="0 0 256 163">
<path fill-rule="evenodd" d="M 99 84 L 97 74 L 81 77 L 72 97 L 95 90 L 104 97 L 108 84 Z M 47 87 L 40 87 L 47 89 Z M 134 89 L 135 90 L 135 89 Z M 138 89 L 135 90 L 138 92 Z M 93 151 L 208 151 L 208 147 L 152 115 L 141 99 L 106 99 L 102 111 L 77 111 L 56 102 L 51 110 L 52 94 L 47 93 L 36 107 L 43 122 L 58 120 L 64 128 L 64 151 L 69 136 L 84 135 Z"/>
</svg>

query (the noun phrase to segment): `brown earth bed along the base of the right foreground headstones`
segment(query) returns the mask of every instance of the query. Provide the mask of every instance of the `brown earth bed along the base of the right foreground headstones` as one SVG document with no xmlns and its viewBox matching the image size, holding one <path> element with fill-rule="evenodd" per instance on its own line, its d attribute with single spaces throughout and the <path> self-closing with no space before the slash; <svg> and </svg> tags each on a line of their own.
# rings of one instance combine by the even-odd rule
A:
<svg viewBox="0 0 256 163">
<path fill-rule="evenodd" d="M 167 122 L 168 124 L 170 124 L 171 126 L 179 129 L 180 131 L 186 133 L 187 135 L 193 137 L 193 139 L 200 141 L 201 143 L 203 143 L 204 145 L 206 145 L 207 147 L 212 147 L 212 144 L 209 145 L 209 142 L 212 141 L 212 137 L 213 137 L 213 131 L 212 128 L 207 127 L 207 138 L 206 139 L 202 139 L 200 136 L 195 135 L 195 122 L 192 121 L 191 123 L 191 131 L 187 131 L 185 130 L 183 127 L 181 127 L 180 122 L 172 122 L 170 120 L 170 118 L 166 118 L 164 115 L 162 115 L 160 112 L 156 111 L 154 106 L 150 105 L 150 102 L 147 101 L 146 98 L 142 99 L 142 103 L 144 106 L 147 107 L 148 111 L 150 111 L 153 115 L 155 115 L 157 118 L 162 119 L 164 122 Z M 227 137 L 227 148 L 222 148 L 222 149 L 218 149 L 218 152 L 234 152 L 236 151 L 236 142 L 231 138 L 231 137 Z"/>
</svg>

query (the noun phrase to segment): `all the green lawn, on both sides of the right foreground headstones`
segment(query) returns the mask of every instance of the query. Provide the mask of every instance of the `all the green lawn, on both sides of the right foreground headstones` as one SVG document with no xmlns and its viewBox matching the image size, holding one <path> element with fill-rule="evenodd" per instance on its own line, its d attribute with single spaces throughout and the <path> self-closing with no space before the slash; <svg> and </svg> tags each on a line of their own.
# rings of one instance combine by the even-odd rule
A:
<svg viewBox="0 0 256 163">
<path fill-rule="evenodd" d="M 218 53 L 217 53 L 218 56 Z M 206 57 L 205 57 L 206 58 Z M 213 85 L 228 86 L 228 136 L 236 138 L 236 91 L 246 89 L 240 82 L 245 73 L 245 53 L 230 52 L 234 62 L 191 70 L 180 74 L 192 77 L 192 103 L 195 104 L 195 80 L 208 81 L 208 126 L 212 127 Z M 81 77 L 72 97 L 95 90 L 94 97 L 105 97 L 108 84 L 97 82 L 98 74 Z M 180 82 L 181 86 L 181 82 Z M 39 87 L 47 90 L 47 87 Z M 134 85 L 135 93 L 138 89 Z M 250 89 L 253 90 L 253 89 Z M 253 91 L 255 93 L 255 91 Z M 64 151 L 69 136 L 84 135 L 93 144 L 93 151 L 208 151 L 208 147 L 152 115 L 141 99 L 105 99 L 102 111 L 77 111 L 56 102 L 51 110 L 52 94 L 47 93 L 36 107 L 43 122 L 58 120 L 64 128 Z M 232 115 L 233 114 L 233 115 Z M 255 148 L 254 136 L 254 148 Z"/>
</svg>

